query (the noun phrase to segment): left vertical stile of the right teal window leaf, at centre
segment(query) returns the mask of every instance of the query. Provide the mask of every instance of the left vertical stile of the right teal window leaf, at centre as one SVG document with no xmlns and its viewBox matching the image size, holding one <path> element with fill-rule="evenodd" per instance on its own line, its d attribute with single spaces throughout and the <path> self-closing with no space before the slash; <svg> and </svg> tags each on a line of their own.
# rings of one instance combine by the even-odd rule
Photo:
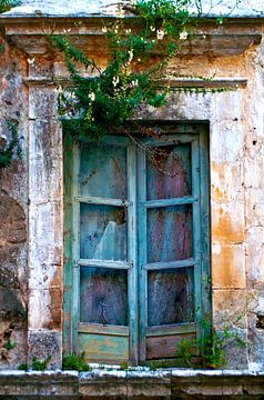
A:
<svg viewBox="0 0 264 400">
<path fill-rule="evenodd" d="M 146 263 L 146 159 L 145 152 L 138 149 L 138 201 L 139 201 L 139 336 L 140 336 L 140 361 L 145 360 L 145 328 L 148 326 L 148 276 L 142 266 Z"/>
</svg>

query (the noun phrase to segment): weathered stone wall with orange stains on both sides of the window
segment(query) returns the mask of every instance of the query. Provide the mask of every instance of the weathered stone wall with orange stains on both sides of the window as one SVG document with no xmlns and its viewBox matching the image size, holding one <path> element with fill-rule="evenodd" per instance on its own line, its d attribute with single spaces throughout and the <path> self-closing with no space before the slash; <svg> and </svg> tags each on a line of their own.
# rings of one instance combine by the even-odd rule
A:
<svg viewBox="0 0 264 400">
<path fill-rule="evenodd" d="M 73 22 L 68 21 L 71 34 L 79 29 Z M 49 367 L 60 368 L 63 149 L 54 79 L 67 79 L 65 69 L 45 39 L 52 21 L 45 30 L 38 21 L 4 23 L 14 46 L 7 46 L 0 56 L 1 129 L 4 133 L 6 118 L 19 121 L 23 158 L 0 172 L 0 366 L 16 368 L 26 358 L 30 362 L 32 357 L 51 356 Z M 85 29 L 90 32 L 83 48 L 90 43 L 92 57 L 104 64 L 97 52 L 100 38 L 91 36 L 89 26 L 80 29 L 82 34 Z M 217 86 L 233 90 L 187 94 L 174 91 L 172 84 L 167 107 L 144 109 L 139 118 L 210 123 L 213 322 L 217 330 L 227 323 L 243 343 L 226 344 L 227 367 L 260 370 L 264 367 L 263 26 L 226 26 L 216 32 L 205 26 L 199 34 L 201 47 L 183 48 L 170 68 L 185 76 L 216 74 Z M 217 34 L 222 41 L 215 41 Z M 212 80 L 211 89 L 214 84 Z M 9 341 L 17 344 L 7 351 Z"/>
</svg>

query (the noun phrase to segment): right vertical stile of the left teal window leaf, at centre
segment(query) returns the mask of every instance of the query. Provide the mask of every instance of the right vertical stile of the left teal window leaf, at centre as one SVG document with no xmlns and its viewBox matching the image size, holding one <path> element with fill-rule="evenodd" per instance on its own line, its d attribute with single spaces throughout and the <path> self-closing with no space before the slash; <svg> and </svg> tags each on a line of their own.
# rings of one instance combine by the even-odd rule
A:
<svg viewBox="0 0 264 400">
<path fill-rule="evenodd" d="M 129 314 L 130 314 L 130 360 L 139 363 L 139 306 L 138 306 L 138 218 L 136 218 L 136 148 L 128 146 L 128 260 L 133 263 L 129 271 Z"/>
</svg>

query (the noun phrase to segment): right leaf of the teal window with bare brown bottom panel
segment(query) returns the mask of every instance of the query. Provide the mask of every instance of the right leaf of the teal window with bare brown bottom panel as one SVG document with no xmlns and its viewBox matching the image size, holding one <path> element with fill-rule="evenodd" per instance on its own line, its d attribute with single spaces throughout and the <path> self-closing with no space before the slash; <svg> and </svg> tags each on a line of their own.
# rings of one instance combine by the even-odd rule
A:
<svg viewBox="0 0 264 400">
<path fill-rule="evenodd" d="M 139 154 L 142 361 L 175 358 L 179 340 L 200 334 L 199 140 L 199 134 L 152 139 Z"/>
</svg>

